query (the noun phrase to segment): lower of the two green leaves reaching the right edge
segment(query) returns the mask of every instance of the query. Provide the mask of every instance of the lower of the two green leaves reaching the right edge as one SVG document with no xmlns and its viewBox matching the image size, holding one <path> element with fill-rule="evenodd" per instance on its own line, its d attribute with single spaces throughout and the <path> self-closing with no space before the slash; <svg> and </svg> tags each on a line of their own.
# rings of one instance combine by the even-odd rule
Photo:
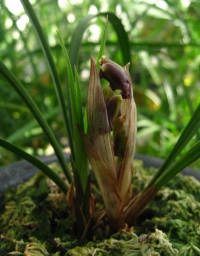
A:
<svg viewBox="0 0 200 256">
<path fill-rule="evenodd" d="M 155 189 L 160 189 L 168 180 L 182 171 L 185 167 L 200 158 L 200 141 L 198 141 L 190 150 L 181 156 L 155 183 Z"/>
</svg>

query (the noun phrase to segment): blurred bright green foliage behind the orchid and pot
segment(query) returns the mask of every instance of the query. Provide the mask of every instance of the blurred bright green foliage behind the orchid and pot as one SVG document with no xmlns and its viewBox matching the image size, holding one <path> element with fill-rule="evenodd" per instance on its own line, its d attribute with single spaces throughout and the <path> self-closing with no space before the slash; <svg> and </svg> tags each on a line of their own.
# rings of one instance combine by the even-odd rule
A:
<svg viewBox="0 0 200 256">
<path fill-rule="evenodd" d="M 200 1 L 30 2 L 46 33 L 63 89 L 67 74 L 56 29 L 64 37 L 68 50 L 72 34 L 83 17 L 112 12 L 120 18 L 130 40 L 130 73 L 138 109 L 136 152 L 166 157 L 200 102 Z M 92 19 L 84 32 L 79 51 L 77 69 L 84 105 L 90 56 L 97 57 L 104 24 L 102 16 Z M 126 64 L 111 24 L 108 25 L 105 54 L 121 65 Z M 0 58 L 29 91 L 62 146 L 66 147 L 66 133 L 50 72 L 19 0 L 0 0 Z M 27 106 L 2 76 L 0 137 L 37 156 L 53 153 Z M 190 141 L 185 151 L 199 139 L 200 133 Z M 0 165 L 16 160 L 15 155 L 0 149 Z M 196 169 L 199 166 L 200 161 L 193 165 Z"/>
</svg>

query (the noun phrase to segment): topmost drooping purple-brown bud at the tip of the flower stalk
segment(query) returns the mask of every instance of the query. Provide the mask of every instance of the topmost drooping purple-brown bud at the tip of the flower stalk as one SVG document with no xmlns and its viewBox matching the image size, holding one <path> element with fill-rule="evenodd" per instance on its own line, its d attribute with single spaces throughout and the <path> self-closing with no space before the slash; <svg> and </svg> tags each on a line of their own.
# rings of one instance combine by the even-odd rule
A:
<svg viewBox="0 0 200 256">
<path fill-rule="evenodd" d="M 123 99 L 130 98 L 130 82 L 123 67 L 107 58 L 105 55 L 99 60 L 100 78 L 105 78 L 111 89 L 121 90 Z"/>
</svg>

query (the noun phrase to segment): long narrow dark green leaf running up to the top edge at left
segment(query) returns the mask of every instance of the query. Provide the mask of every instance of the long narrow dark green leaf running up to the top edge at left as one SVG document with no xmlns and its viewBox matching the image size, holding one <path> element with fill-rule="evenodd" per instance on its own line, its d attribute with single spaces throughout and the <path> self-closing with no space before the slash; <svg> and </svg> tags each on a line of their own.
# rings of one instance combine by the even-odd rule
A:
<svg viewBox="0 0 200 256">
<path fill-rule="evenodd" d="M 31 6 L 30 2 L 28 0 L 20 0 L 22 5 L 24 6 L 25 12 L 27 13 L 33 28 L 37 34 L 37 37 L 40 41 L 41 48 L 43 50 L 44 56 L 46 57 L 47 64 L 49 66 L 49 70 L 53 79 L 53 83 L 55 86 L 56 96 L 59 102 L 59 105 L 61 107 L 62 116 L 64 120 L 65 129 L 69 130 L 69 122 L 68 122 L 68 116 L 67 116 L 67 110 L 65 106 L 64 101 L 64 95 L 62 93 L 61 89 L 61 83 L 59 80 L 58 72 L 56 70 L 55 62 L 53 60 L 53 56 L 50 51 L 50 47 L 47 43 L 46 36 L 44 34 L 44 31 L 40 25 L 40 22 L 36 16 L 36 13 L 34 12 L 33 7 Z M 70 134 L 67 134 L 68 139 L 70 140 Z"/>
</svg>

